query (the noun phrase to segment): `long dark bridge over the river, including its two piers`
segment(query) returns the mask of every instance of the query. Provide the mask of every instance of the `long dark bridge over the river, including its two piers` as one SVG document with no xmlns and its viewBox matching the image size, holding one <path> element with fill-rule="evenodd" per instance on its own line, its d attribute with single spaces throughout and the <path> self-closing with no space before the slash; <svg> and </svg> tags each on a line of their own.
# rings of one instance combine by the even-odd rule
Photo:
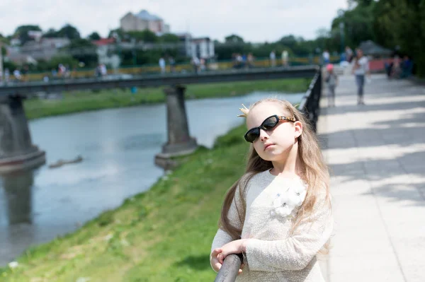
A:
<svg viewBox="0 0 425 282">
<path fill-rule="evenodd" d="M 69 90 L 100 90 L 166 86 L 168 141 L 155 163 L 162 168 L 173 165 L 171 158 L 196 150 L 196 139 L 188 131 L 184 103 L 185 86 L 195 83 L 255 81 L 266 79 L 313 78 L 319 66 L 294 66 L 261 69 L 212 71 L 200 74 L 157 74 L 127 79 L 74 79 L 52 82 L 13 83 L 0 87 L 0 173 L 21 170 L 45 163 L 45 151 L 31 141 L 22 100 L 35 93 Z M 320 88 L 321 86 L 319 86 Z M 314 90 L 319 90 L 314 86 Z M 303 101 L 304 103 L 306 101 Z"/>
</svg>

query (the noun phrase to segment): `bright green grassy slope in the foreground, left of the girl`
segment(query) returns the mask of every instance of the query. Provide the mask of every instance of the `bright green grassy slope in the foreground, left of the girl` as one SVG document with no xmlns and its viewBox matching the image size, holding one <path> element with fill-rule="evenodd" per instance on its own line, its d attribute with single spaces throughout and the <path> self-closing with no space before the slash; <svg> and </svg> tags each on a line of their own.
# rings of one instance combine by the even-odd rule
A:
<svg viewBox="0 0 425 282">
<path fill-rule="evenodd" d="M 213 281 L 210 244 L 225 192 L 244 172 L 245 130 L 183 158 L 148 192 L 76 233 L 28 249 L 16 268 L 0 269 L 0 280 Z"/>
</svg>

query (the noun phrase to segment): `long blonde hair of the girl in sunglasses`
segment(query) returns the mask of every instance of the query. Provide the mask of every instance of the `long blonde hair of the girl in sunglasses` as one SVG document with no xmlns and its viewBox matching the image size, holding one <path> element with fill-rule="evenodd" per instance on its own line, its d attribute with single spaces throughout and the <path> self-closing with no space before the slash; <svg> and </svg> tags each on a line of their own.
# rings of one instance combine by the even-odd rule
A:
<svg viewBox="0 0 425 282">
<path fill-rule="evenodd" d="M 307 195 L 305 196 L 305 200 L 300 207 L 300 210 L 297 213 L 293 221 L 293 228 L 295 230 L 297 225 L 300 224 L 302 219 L 307 218 L 312 213 L 314 203 L 317 200 L 317 196 L 320 192 L 326 192 L 327 197 L 326 201 L 328 201 L 330 206 L 329 199 L 329 170 L 327 165 L 324 163 L 322 152 L 319 148 L 319 143 L 317 141 L 316 134 L 314 133 L 311 125 L 307 122 L 307 119 L 303 116 L 303 114 L 297 110 L 290 102 L 285 100 L 278 100 L 275 98 L 267 98 L 263 100 L 259 100 L 254 103 L 250 107 L 250 110 L 254 108 L 256 105 L 259 105 L 261 102 L 277 102 L 283 106 L 285 110 L 285 114 L 288 114 L 290 117 L 294 117 L 297 121 L 302 123 L 302 134 L 297 138 L 298 139 L 298 155 L 301 160 L 302 166 L 302 174 L 300 177 L 307 183 Z M 244 223 L 245 211 L 246 211 L 246 201 L 245 201 L 245 192 L 246 192 L 246 184 L 251 180 L 254 175 L 259 172 L 263 172 L 273 168 L 273 164 L 271 161 L 263 160 L 260 158 L 258 153 L 256 153 L 254 146 L 251 145 L 248 153 L 248 160 L 246 163 L 246 173 L 244 177 L 239 178 L 237 182 L 235 182 L 232 187 L 230 187 L 229 191 L 225 196 L 225 201 L 222 205 L 222 213 L 219 222 L 219 228 L 225 230 L 229 235 L 232 236 L 234 240 L 240 239 L 242 235 L 242 228 L 238 228 L 237 226 L 232 225 L 229 222 L 227 217 L 229 213 L 229 208 L 234 199 L 234 194 L 237 191 L 237 187 L 239 186 L 240 199 L 242 199 L 243 208 L 242 211 L 237 210 L 239 215 L 240 222 Z"/>
</svg>

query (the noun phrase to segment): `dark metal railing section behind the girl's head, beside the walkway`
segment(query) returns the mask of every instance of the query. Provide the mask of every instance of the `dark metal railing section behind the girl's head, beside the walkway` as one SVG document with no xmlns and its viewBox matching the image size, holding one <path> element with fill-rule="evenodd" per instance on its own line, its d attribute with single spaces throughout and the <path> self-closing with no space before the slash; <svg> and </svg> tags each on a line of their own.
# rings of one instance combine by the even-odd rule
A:
<svg viewBox="0 0 425 282">
<path fill-rule="evenodd" d="M 322 95 L 322 72 L 319 70 L 314 75 L 309 88 L 305 95 L 302 97 L 298 110 L 300 110 L 305 117 L 310 121 L 314 131 L 317 130 L 317 119 L 320 114 L 320 97 Z"/>
</svg>

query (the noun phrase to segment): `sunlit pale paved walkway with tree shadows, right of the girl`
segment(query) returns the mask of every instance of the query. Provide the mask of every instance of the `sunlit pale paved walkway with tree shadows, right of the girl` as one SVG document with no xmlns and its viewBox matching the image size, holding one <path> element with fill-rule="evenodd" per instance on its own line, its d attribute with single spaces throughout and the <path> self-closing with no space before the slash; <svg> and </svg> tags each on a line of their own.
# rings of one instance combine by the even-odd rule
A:
<svg viewBox="0 0 425 282">
<path fill-rule="evenodd" d="M 424 282 L 425 87 L 376 75 L 365 103 L 353 76 L 340 77 L 336 107 L 321 101 L 336 221 L 322 268 L 329 282 Z"/>
</svg>

